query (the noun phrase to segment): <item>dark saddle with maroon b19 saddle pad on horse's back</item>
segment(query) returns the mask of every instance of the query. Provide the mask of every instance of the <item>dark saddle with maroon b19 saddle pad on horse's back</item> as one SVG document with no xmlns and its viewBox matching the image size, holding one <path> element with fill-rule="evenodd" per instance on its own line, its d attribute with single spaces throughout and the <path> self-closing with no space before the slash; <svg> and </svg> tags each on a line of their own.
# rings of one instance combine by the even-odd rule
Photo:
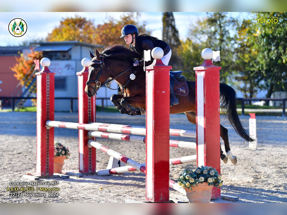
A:
<svg viewBox="0 0 287 215">
<path fill-rule="evenodd" d="M 187 95 L 188 86 L 186 78 L 181 75 L 182 71 L 170 71 L 170 85 L 176 95 Z"/>
</svg>

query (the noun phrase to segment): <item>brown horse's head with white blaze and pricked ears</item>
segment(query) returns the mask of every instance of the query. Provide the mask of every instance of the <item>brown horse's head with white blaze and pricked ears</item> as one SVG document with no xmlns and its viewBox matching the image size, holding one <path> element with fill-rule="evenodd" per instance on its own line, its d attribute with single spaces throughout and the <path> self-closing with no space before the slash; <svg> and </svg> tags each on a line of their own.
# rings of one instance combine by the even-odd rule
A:
<svg viewBox="0 0 287 215">
<path fill-rule="evenodd" d="M 85 87 L 85 92 L 88 97 L 97 94 L 98 89 L 100 89 L 104 81 L 109 78 L 109 69 L 105 66 L 104 58 L 100 56 L 98 50 L 96 50 L 96 56 L 91 52 L 90 56 L 92 60 L 89 63 L 89 76 Z"/>
</svg>

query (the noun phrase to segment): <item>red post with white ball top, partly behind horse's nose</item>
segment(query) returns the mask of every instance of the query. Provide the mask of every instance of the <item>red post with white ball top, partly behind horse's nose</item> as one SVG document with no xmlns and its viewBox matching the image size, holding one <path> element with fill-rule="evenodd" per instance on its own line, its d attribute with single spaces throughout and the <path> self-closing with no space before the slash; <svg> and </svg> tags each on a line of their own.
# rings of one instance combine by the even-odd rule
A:
<svg viewBox="0 0 287 215">
<path fill-rule="evenodd" d="M 86 82 L 88 80 L 88 64 L 90 59 L 82 60 L 83 70 L 77 72 L 78 75 L 78 107 L 79 124 L 96 122 L 96 97 L 91 98 L 85 93 Z M 79 125 L 80 127 L 81 125 Z M 84 125 L 82 125 L 84 127 Z M 88 131 L 79 129 L 79 172 L 96 172 L 96 148 L 88 146 Z M 96 138 L 93 138 L 96 140 Z"/>
</svg>

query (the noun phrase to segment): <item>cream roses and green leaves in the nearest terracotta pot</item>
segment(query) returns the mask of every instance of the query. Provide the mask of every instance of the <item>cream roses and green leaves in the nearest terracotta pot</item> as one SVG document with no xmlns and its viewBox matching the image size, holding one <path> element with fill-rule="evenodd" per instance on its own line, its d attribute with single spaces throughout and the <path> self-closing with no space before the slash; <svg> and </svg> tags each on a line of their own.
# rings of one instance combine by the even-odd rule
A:
<svg viewBox="0 0 287 215">
<path fill-rule="evenodd" d="M 216 169 L 208 166 L 197 167 L 195 171 L 191 169 L 183 170 L 183 173 L 179 174 L 177 178 L 179 186 L 182 188 L 188 188 L 192 190 L 192 187 L 197 186 L 198 183 L 207 182 L 208 186 L 214 187 L 222 186 L 223 180 L 221 175 Z"/>
</svg>

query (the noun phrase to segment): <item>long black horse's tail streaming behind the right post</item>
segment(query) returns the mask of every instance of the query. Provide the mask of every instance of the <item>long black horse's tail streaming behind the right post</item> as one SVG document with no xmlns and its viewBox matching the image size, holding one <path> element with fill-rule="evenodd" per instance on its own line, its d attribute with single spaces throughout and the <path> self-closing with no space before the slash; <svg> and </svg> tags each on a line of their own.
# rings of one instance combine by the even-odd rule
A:
<svg viewBox="0 0 287 215">
<path fill-rule="evenodd" d="M 254 141 L 253 138 L 249 136 L 245 128 L 243 128 L 238 117 L 236 110 L 236 92 L 232 87 L 223 83 L 220 83 L 220 103 L 222 110 L 224 111 L 224 115 L 227 117 L 237 134 L 247 141 Z"/>
</svg>

